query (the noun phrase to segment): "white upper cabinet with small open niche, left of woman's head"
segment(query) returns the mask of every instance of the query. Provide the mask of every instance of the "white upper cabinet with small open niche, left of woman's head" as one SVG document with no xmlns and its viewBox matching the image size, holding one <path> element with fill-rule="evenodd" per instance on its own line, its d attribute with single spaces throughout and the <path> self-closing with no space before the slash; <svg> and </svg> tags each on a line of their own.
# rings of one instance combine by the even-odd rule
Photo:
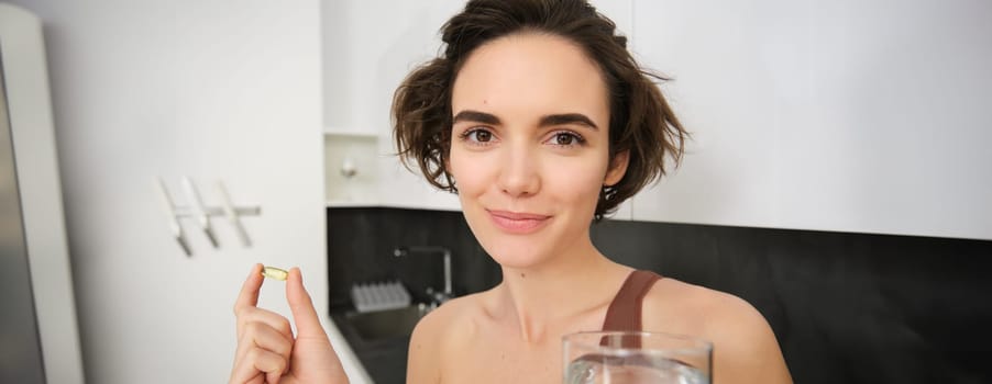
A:
<svg viewBox="0 0 992 384">
<path fill-rule="evenodd" d="M 458 199 L 453 194 L 436 191 L 422 177 L 399 165 L 393 145 L 389 108 L 393 92 L 404 77 L 437 54 L 441 24 L 464 3 L 348 0 L 324 2 L 323 5 L 326 131 L 339 138 L 351 133 L 378 137 L 374 169 L 364 172 L 375 179 L 373 184 L 362 187 L 367 203 L 333 200 L 329 205 L 458 210 Z M 388 12 L 383 11 L 386 9 Z M 341 146 L 329 146 L 331 153 L 327 158 L 344 156 L 333 153 L 339 149 Z M 354 146 L 351 149 L 355 149 Z M 338 168 L 333 160 L 328 166 L 329 191 L 353 189 L 355 182 L 333 184 L 341 179 Z M 329 200 L 331 197 L 329 195 Z"/>
</svg>

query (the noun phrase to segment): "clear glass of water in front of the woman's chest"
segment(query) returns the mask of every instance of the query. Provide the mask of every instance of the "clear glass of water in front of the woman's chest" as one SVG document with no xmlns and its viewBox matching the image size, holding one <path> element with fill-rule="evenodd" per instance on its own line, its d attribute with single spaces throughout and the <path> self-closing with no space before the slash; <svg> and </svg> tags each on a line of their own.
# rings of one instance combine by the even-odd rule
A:
<svg viewBox="0 0 992 384">
<path fill-rule="evenodd" d="M 713 343 L 687 336 L 589 331 L 562 338 L 564 384 L 708 384 Z"/>
</svg>

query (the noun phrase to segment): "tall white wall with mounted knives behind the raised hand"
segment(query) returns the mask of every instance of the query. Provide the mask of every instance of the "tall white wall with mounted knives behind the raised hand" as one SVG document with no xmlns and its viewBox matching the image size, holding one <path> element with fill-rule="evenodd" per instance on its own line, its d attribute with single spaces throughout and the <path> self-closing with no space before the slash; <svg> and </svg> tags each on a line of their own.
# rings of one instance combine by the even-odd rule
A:
<svg viewBox="0 0 992 384">
<path fill-rule="evenodd" d="M 44 25 L 86 381 L 225 382 L 232 306 L 255 262 L 299 266 L 332 327 L 320 3 L 13 2 Z M 186 257 L 157 177 L 179 205 L 190 177 L 207 205 L 221 180 L 235 204 L 260 206 L 242 218 L 252 246 L 214 219 L 214 249 L 184 219 Z M 282 283 L 260 304 L 289 314 Z"/>
</svg>

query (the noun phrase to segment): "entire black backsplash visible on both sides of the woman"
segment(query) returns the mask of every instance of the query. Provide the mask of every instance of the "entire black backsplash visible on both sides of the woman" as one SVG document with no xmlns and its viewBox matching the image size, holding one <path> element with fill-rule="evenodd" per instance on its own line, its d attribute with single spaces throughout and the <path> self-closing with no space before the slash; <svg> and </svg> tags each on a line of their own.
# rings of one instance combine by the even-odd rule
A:
<svg viewBox="0 0 992 384">
<path fill-rule="evenodd" d="M 797 383 L 992 381 L 992 241 L 687 224 L 593 225 L 614 260 L 747 300 L 768 318 Z M 453 252 L 459 295 L 499 283 L 461 213 L 328 208 L 330 305 L 352 283 L 400 280 L 417 298 L 442 285 Z"/>
</svg>

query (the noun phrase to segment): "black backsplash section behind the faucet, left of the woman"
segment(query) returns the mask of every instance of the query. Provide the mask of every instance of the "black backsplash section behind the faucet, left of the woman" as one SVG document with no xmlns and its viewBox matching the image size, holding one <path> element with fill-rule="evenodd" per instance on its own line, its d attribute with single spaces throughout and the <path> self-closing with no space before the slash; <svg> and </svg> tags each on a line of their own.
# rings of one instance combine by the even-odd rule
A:
<svg viewBox="0 0 992 384">
<path fill-rule="evenodd" d="M 499 264 L 482 249 L 460 212 L 328 208 L 328 276 L 332 310 L 350 307 L 354 283 L 399 280 L 415 300 L 444 286 L 441 255 L 397 258 L 400 246 L 441 246 L 452 252 L 452 290 L 459 296 L 501 281 Z"/>
</svg>

